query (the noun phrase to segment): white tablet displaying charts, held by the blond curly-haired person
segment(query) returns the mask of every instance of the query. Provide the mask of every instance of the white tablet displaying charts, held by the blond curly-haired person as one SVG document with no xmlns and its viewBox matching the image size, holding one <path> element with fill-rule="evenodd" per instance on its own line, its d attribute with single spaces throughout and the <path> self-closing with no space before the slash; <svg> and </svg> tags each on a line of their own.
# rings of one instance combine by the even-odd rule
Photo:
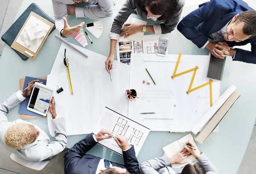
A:
<svg viewBox="0 0 256 174">
<path fill-rule="evenodd" d="M 35 82 L 35 87 L 32 90 L 27 110 L 46 116 L 53 93 L 54 90 L 52 88 Z"/>
</svg>

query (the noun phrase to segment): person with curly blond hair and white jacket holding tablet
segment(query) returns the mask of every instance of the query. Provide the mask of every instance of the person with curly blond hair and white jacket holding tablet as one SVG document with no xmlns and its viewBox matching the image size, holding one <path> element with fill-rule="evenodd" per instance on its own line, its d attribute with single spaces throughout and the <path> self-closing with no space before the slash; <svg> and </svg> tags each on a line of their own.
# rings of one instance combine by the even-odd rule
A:
<svg viewBox="0 0 256 174">
<path fill-rule="evenodd" d="M 31 81 L 28 86 L 37 81 Z M 50 142 L 49 136 L 37 125 L 23 120 L 8 122 L 7 113 L 31 95 L 35 85 L 24 93 L 18 91 L 12 94 L 3 104 L 0 104 L 0 142 L 15 155 L 27 160 L 39 162 L 60 153 L 67 146 L 65 120 L 57 116 L 54 97 L 49 102 L 49 112 L 52 114 L 52 127 L 55 141 Z"/>
</svg>

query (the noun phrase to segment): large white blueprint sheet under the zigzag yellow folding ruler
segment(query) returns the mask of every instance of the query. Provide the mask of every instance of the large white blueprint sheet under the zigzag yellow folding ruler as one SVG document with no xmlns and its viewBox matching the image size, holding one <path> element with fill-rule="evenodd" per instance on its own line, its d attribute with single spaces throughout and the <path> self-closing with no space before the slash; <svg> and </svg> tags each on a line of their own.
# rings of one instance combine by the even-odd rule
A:
<svg viewBox="0 0 256 174">
<path fill-rule="evenodd" d="M 210 108 L 209 85 L 195 90 L 189 95 L 186 91 L 192 79 L 193 72 L 175 77 L 174 73 L 178 55 L 132 54 L 130 87 L 135 89 L 138 97 L 136 102 L 129 102 L 130 119 L 147 126 L 151 131 L 190 131 L 191 128 Z M 192 88 L 209 82 L 207 76 L 208 55 L 182 55 L 177 73 L 195 68 L 196 72 Z M 155 83 L 146 72 L 151 74 Z M 177 74 L 176 73 L 176 74 Z M 143 84 L 143 80 L 150 85 Z M 150 95 L 149 95 L 150 94 Z M 213 104 L 220 96 L 220 81 L 213 80 Z M 148 118 L 145 112 L 155 112 Z"/>
</svg>

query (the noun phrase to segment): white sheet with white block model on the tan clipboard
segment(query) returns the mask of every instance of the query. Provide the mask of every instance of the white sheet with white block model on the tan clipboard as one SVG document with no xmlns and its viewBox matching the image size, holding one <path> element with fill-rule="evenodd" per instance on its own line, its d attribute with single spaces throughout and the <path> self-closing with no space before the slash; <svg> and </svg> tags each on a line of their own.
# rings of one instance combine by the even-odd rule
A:
<svg viewBox="0 0 256 174">
<path fill-rule="evenodd" d="M 35 22 L 38 23 L 37 26 L 33 27 L 32 23 Z M 49 29 L 51 28 L 51 26 L 47 25 L 46 23 L 44 23 L 43 21 L 37 19 L 34 16 L 30 16 L 29 20 L 26 23 L 26 26 L 23 28 L 22 32 L 20 33 L 20 35 L 22 35 L 23 33 L 26 35 L 26 29 L 31 28 L 31 30 L 33 32 L 35 32 L 38 29 L 42 29 L 41 32 L 37 32 L 35 33 L 36 36 L 36 40 L 35 41 L 31 41 L 29 38 L 26 40 L 29 42 L 29 46 L 26 46 L 25 41 L 22 41 L 20 37 L 17 38 L 16 42 L 22 46 L 24 46 L 26 49 L 29 49 L 30 51 L 36 53 L 39 46 L 41 45 L 41 43 L 43 42 L 44 38 L 38 39 L 38 35 L 41 35 L 41 33 L 43 33 L 44 37 L 47 35 L 47 33 L 49 32 Z"/>
</svg>

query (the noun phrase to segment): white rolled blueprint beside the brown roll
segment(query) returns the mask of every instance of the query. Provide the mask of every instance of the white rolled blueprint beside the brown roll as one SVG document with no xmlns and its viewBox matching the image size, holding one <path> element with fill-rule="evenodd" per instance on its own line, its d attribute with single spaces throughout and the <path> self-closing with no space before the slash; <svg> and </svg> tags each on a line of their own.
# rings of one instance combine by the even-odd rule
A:
<svg viewBox="0 0 256 174">
<path fill-rule="evenodd" d="M 220 98 L 218 98 L 218 100 L 212 105 L 212 107 L 207 110 L 204 116 L 202 116 L 201 119 L 195 124 L 195 126 L 191 129 L 191 132 L 197 134 L 235 90 L 236 87 L 231 84 L 230 87 L 227 88 L 227 90 L 220 96 Z"/>
</svg>

